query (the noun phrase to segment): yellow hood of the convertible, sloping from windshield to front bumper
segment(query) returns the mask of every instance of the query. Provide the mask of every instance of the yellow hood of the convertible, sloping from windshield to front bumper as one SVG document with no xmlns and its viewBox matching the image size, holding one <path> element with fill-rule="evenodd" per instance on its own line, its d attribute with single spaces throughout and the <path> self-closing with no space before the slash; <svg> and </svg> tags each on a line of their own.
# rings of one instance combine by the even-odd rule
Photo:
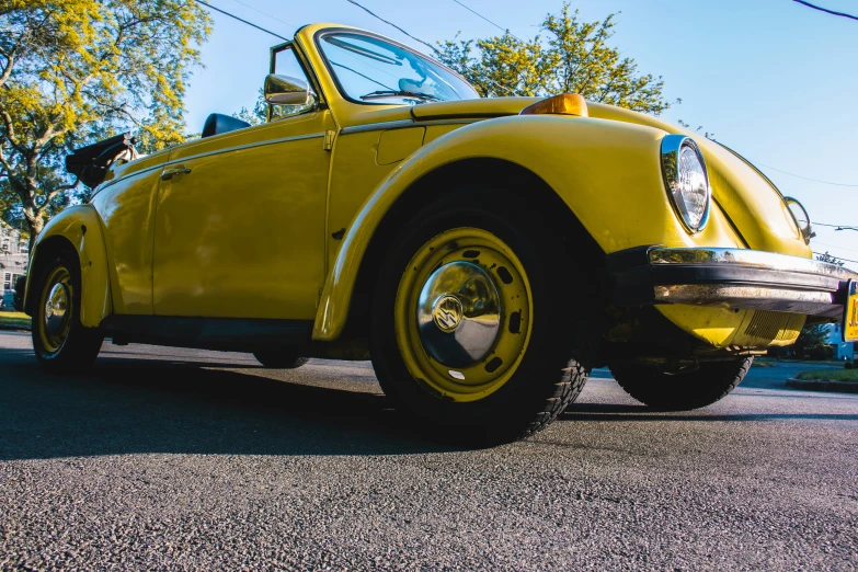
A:
<svg viewBox="0 0 858 572">
<path fill-rule="evenodd" d="M 415 105 L 416 121 L 446 118 L 492 118 L 516 115 L 541 98 L 485 98 Z M 614 105 L 587 102 L 590 117 L 645 125 L 671 134 L 686 135 L 702 150 L 712 185 L 712 197 L 730 218 L 748 248 L 811 258 L 780 192 L 740 156 L 677 125 Z M 570 117 L 570 121 L 575 121 Z"/>
</svg>

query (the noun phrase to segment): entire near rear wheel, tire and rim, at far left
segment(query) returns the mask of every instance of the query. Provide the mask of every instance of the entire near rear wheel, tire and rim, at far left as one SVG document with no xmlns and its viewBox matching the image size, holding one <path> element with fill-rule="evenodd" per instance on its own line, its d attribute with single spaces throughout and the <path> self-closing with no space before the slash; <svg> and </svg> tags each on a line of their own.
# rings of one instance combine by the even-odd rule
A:
<svg viewBox="0 0 858 572">
<path fill-rule="evenodd" d="M 42 266 L 33 313 L 36 359 L 54 374 L 76 374 L 92 365 L 104 334 L 80 323 L 80 270 L 77 258 L 64 252 Z"/>
</svg>

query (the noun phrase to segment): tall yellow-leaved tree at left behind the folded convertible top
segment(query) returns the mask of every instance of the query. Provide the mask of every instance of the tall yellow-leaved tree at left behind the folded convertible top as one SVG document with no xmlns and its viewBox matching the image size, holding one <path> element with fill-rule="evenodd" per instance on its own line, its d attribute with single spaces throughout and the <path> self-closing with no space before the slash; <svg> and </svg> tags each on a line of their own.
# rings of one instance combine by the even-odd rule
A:
<svg viewBox="0 0 858 572">
<path fill-rule="evenodd" d="M 190 0 L 0 3 L 0 195 L 31 241 L 77 187 L 61 169 L 73 147 L 129 127 L 156 149 L 183 139 L 188 69 L 210 22 Z"/>
</svg>

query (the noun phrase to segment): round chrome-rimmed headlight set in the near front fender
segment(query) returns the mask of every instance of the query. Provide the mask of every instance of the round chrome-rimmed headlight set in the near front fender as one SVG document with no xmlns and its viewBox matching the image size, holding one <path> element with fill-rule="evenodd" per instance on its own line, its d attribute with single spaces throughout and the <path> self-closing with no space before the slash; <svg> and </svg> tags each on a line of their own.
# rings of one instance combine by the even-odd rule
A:
<svg viewBox="0 0 858 572">
<path fill-rule="evenodd" d="M 703 156 L 684 135 L 662 139 L 662 173 L 676 214 L 689 232 L 702 230 L 709 219 L 711 191 Z"/>
</svg>

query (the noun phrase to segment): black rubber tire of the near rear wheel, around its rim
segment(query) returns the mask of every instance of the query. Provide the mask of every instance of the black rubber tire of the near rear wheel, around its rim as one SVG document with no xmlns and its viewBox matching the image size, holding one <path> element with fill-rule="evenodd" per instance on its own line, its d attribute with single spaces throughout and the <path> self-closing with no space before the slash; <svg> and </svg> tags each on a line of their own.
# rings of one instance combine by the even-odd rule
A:
<svg viewBox="0 0 858 572">
<path fill-rule="evenodd" d="M 47 263 L 39 264 L 34 282 L 36 299 L 32 321 L 33 348 L 36 359 L 46 371 L 80 374 L 95 362 L 104 342 L 104 334 L 98 328 L 84 328 L 80 323 L 81 281 L 77 254 L 62 251 L 50 256 Z M 62 325 L 62 330 L 67 332 L 65 339 L 52 346 L 49 340 L 57 338 L 48 335 L 45 324 L 47 290 L 53 289 L 48 281 L 64 271 L 68 273 L 67 288 L 71 290 L 71 307 L 65 310 L 68 313 L 68 321 Z"/>
</svg>

